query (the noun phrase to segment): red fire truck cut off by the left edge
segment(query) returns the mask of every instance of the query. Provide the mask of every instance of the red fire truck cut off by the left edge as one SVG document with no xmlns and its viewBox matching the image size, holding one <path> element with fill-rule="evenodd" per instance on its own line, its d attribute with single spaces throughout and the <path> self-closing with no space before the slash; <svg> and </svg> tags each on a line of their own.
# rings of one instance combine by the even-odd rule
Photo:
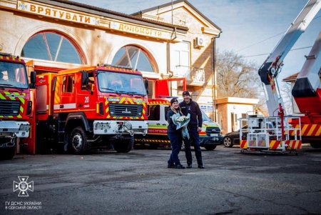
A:
<svg viewBox="0 0 321 215">
<path fill-rule="evenodd" d="M 11 159 L 17 138 L 29 137 L 30 89 L 36 74 L 31 72 L 29 86 L 24 60 L 0 53 L 0 159 Z"/>
</svg>

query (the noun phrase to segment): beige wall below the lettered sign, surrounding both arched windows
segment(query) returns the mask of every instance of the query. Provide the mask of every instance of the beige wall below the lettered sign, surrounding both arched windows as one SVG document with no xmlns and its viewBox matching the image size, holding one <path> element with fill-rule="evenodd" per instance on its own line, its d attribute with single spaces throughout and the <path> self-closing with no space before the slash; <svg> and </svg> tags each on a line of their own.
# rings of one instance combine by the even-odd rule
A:
<svg viewBox="0 0 321 215">
<path fill-rule="evenodd" d="M 20 15 L 20 16 L 19 16 Z M 23 16 L 22 16 L 23 15 Z M 167 42 L 161 40 L 146 40 L 145 37 L 131 34 L 111 32 L 108 30 L 85 28 L 77 24 L 60 20 L 34 17 L 33 15 L 14 14 L 11 11 L 0 13 L 0 44 L 2 50 L 15 56 L 21 51 L 31 36 L 40 31 L 56 31 L 73 40 L 83 54 L 85 64 L 111 64 L 113 57 L 121 47 L 126 45 L 139 46 L 150 54 L 156 66 L 156 74 L 148 73 L 151 78 L 160 79 L 162 73 L 167 73 L 166 49 Z M 13 31 L 10 31 L 12 29 Z M 28 59 L 27 59 L 28 60 Z M 73 64 L 36 60 L 36 64 L 70 68 Z"/>
</svg>

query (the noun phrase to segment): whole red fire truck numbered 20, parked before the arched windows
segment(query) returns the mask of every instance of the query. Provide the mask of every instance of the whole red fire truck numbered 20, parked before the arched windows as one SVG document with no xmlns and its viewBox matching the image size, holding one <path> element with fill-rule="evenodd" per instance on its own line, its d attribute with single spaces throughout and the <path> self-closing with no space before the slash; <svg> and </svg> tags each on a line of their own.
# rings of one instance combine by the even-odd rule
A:
<svg viewBox="0 0 321 215">
<path fill-rule="evenodd" d="M 131 151 L 133 135 L 145 135 L 148 81 L 139 71 L 84 66 L 36 76 L 36 146 L 63 145 L 83 154 L 112 144 Z"/>
</svg>

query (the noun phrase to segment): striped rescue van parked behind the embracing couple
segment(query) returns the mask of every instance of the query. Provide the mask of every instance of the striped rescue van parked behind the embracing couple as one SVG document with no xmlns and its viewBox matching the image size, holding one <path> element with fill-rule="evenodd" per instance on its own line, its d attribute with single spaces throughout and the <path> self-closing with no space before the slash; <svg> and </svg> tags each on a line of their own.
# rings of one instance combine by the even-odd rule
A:
<svg viewBox="0 0 321 215">
<path fill-rule="evenodd" d="M 168 99 L 148 99 L 148 133 L 135 139 L 135 144 L 149 144 L 151 148 L 158 146 L 169 146 L 167 136 L 168 121 L 166 113 L 170 108 Z M 203 125 L 200 134 L 200 146 L 206 150 L 214 150 L 217 145 L 222 144 L 223 136 L 220 134 L 220 127 L 215 124 L 203 111 Z"/>
</svg>

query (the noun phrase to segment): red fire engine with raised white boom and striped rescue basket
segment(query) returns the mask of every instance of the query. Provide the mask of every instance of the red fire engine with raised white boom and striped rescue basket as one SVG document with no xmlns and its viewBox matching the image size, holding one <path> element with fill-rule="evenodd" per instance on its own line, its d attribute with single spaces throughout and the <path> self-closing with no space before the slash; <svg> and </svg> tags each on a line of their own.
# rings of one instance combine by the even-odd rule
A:
<svg viewBox="0 0 321 215">
<path fill-rule="evenodd" d="M 290 28 L 267 57 L 258 73 L 267 94 L 269 117 L 248 116 L 247 131 L 240 129 L 240 148 L 243 152 L 291 152 L 300 149 L 302 140 L 310 141 L 311 146 L 321 146 L 321 89 L 320 89 L 320 47 L 321 34 L 312 47 L 307 61 L 297 76 L 292 95 L 302 115 L 285 116 L 282 99 L 277 86 L 277 75 L 283 59 L 305 31 L 317 12 L 321 0 L 310 0 L 291 24 Z M 311 131 L 307 131 L 311 129 Z M 313 131 L 312 131 L 313 130 Z M 246 137 L 245 137 L 246 134 Z M 243 138 L 242 138 L 243 137 Z M 245 137 L 245 138 L 244 138 Z"/>
</svg>

